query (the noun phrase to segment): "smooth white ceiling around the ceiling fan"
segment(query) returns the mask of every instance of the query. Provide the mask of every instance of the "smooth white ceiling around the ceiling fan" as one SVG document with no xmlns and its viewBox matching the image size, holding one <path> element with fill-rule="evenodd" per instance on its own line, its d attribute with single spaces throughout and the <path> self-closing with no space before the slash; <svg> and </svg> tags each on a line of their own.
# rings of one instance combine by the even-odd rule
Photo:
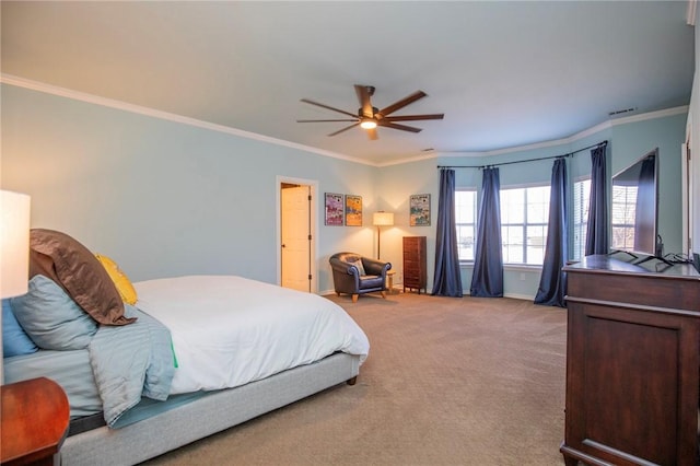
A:
<svg viewBox="0 0 700 466">
<path fill-rule="evenodd" d="M 2 73 L 362 159 L 373 164 L 568 138 L 687 105 L 686 1 L 2 1 Z M 411 133 L 347 124 L 418 90 Z"/>
</svg>

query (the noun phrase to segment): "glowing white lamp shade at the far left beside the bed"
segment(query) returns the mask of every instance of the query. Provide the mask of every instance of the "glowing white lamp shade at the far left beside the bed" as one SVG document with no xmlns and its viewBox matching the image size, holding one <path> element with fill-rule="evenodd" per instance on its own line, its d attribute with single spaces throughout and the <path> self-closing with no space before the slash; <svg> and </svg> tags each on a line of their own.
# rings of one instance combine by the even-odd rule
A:
<svg viewBox="0 0 700 466">
<path fill-rule="evenodd" d="M 0 298 L 27 291 L 30 201 L 27 195 L 0 190 Z"/>
</svg>

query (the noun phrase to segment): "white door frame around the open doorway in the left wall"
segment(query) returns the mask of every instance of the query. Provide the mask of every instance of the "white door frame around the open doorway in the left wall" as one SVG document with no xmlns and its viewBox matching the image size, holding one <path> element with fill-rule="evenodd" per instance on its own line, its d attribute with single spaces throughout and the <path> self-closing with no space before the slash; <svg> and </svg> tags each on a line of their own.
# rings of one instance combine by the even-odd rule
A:
<svg viewBox="0 0 700 466">
<path fill-rule="evenodd" d="M 303 185 L 311 187 L 311 292 L 318 294 L 318 267 L 316 265 L 316 257 L 318 257 L 318 182 L 315 179 L 295 178 L 291 176 L 277 175 L 276 179 L 276 213 L 277 213 L 277 284 L 282 286 L 282 184 Z"/>
</svg>

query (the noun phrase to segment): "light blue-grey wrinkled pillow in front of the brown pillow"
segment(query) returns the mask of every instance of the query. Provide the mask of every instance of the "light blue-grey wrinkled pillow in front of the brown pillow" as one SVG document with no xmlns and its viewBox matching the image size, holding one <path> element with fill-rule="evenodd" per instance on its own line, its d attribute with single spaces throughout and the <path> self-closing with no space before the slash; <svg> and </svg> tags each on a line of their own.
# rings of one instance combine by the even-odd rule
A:
<svg viewBox="0 0 700 466">
<path fill-rule="evenodd" d="M 61 287 L 42 275 L 30 280 L 26 294 L 10 301 L 14 316 L 39 348 L 83 349 L 97 331 L 97 324 Z"/>
</svg>

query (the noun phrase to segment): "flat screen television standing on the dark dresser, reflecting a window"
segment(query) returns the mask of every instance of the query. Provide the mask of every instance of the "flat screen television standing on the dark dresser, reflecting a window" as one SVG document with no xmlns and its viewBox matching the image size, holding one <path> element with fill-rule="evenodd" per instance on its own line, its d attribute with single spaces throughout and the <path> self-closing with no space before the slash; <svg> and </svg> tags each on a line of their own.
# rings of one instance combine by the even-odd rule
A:
<svg viewBox="0 0 700 466">
<path fill-rule="evenodd" d="M 663 259 L 658 236 L 658 148 L 612 176 L 612 252 Z M 665 261 L 665 260 L 664 260 Z"/>
</svg>

